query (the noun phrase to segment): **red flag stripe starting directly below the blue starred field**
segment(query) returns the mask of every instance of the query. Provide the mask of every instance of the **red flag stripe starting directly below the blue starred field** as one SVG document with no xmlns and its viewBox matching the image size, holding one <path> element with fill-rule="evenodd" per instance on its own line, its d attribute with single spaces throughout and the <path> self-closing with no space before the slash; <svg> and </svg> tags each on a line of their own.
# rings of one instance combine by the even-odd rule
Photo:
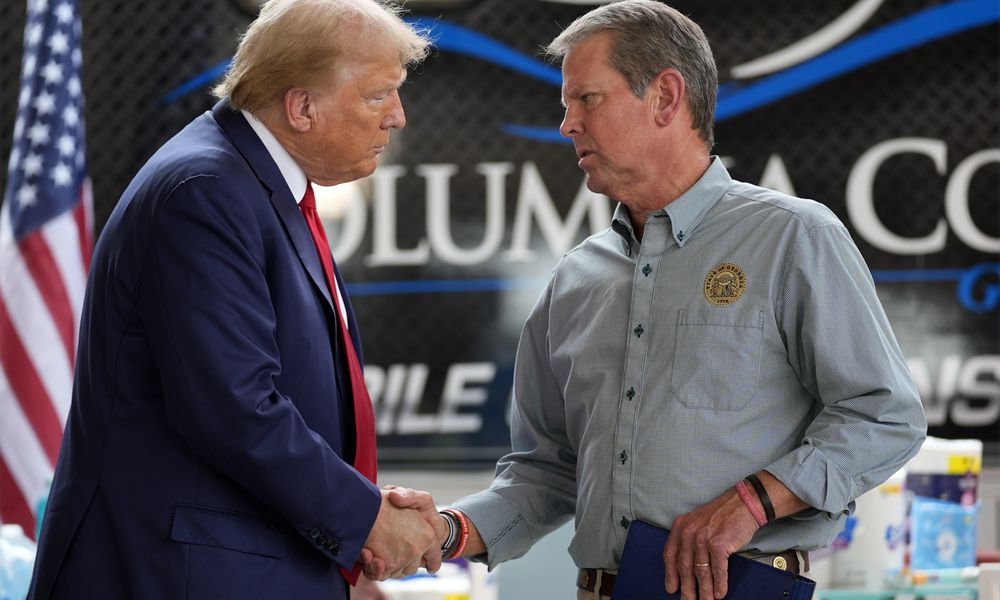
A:
<svg viewBox="0 0 1000 600">
<path fill-rule="evenodd" d="M 17 243 L 21 251 L 21 258 L 28 266 L 28 272 L 35 281 L 35 286 L 42 294 L 42 300 L 49 309 L 52 316 L 52 323 L 62 338 L 63 346 L 66 347 L 66 356 L 69 357 L 70 369 L 75 362 L 75 341 L 76 320 L 73 318 L 73 305 L 69 302 L 69 293 L 63 284 L 62 275 L 59 273 L 59 266 L 52 255 L 52 250 L 42 237 L 42 231 L 38 230 L 26 236 Z"/>
</svg>

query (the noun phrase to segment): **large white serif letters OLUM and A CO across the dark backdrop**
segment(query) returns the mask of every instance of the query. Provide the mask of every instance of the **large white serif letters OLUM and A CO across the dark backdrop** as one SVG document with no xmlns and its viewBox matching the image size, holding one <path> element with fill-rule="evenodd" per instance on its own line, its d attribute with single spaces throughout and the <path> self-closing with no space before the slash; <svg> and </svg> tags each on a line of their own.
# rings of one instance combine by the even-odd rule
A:
<svg viewBox="0 0 1000 600">
<path fill-rule="evenodd" d="M 987 253 L 1000 252 L 1000 238 L 983 232 L 973 221 L 969 209 L 969 189 L 973 179 L 985 166 L 1000 164 L 1000 148 L 980 150 L 955 165 L 945 187 L 943 217 L 938 220 L 933 231 L 913 237 L 894 232 L 892 224 L 883 222 L 875 209 L 875 179 L 881 169 L 891 168 L 887 163 L 892 157 L 901 154 L 922 154 L 930 159 L 928 168 L 933 168 L 941 176 L 948 176 L 948 148 L 941 140 L 904 137 L 872 146 L 851 168 L 845 190 L 849 224 L 857 235 L 885 252 L 911 256 L 944 251 L 950 230 L 970 248 Z M 727 166 L 733 166 L 735 161 L 726 157 L 724 162 Z M 427 211 L 423 231 L 426 235 L 415 242 L 415 247 L 400 248 L 397 186 L 399 179 L 406 175 L 407 168 L 402 165 L 380 167 L 368 180 L 372 194 L 372 250 L 364 258 L 365 264 L 372 267 L 419 266 L 428 264 L 433 257 L 450 265 L 469 266 L 498 256 L 507 262 L 527 263 L 538 259 L 537 253 L 542 247 L 551 257 L 561 256 L 572 248 L 581 235 L 599 232 L 610 223 L 611 203 L 606 197 L 587 189 L 583 179 L 565 218 L 560 216 L 558 207 L 564 206 L 565 202 L 553 200 L 538 167 L 527 161 L 520 167 L 520 183 L 513 222 L 510 224 L 510 246 L 504 250 L 502 245 L 508 229 L 505 221 L 508 196 L 506 181 L 507 176 L 516 169 L 517 166 L 512 162 L 478 163 L 475 172 L 482 177 L 485 188 L 485 199 L 480 200 L 452 198 L 452 180 L 463 176 L 458 165 L 417 165 L 414 175 L 421 177 L 425 184 Z M 767 188 L 796 194 L 784 160 L 778 154 L 768 157 L 759 182 Z M 368 225 L 367 209 L 360 189 L 355 187 L 348 190 L 348 196 L 344 199 L 346 210 L 340 230 L 335 236 L 336 245 L 333 249 L 337 260 L 341 262 L 350 259 L 358 250 Z M 906 194 L 907 191 L 901 190 L 899 193 Z M 820 200 L 835 201 L 832 198 Z M 459 201 L 485 204 L 481 219 L 461 224 L 463 227 L 475 227 L 477 233 L 482 228 L 481 241 L 471 248 L 463 248 L 455 243 L 453 229 L 459 225 L 453 223 L 451 215 L 453 203 Z M 416 225 L 407 223 L 405 226 L 408 231 L 414 231 Z M 535 226 L 539 234 L 537 236 L 533 235 Z M 533 243 L 536 248 L 532 247 Z"/>
</svg>

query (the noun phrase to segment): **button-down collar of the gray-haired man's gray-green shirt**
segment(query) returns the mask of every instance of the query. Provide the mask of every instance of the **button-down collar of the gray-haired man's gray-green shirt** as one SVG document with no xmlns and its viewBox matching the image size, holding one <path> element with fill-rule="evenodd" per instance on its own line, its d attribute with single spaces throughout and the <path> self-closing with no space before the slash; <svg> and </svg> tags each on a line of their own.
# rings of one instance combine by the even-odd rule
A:
<svg viewBox="0 0 1000 600">
<path fill-rule="evenodd" d="M 669 217 L 674 241 L 677 242 L 678 246 L 684 247 L 708 211 L 715 206 L 715 203 L 722 198 L 722 195 L 732 184 L 733 179 L 722 164 L 722 160 L 718 156 L 713 156 L 708 169 L 694 185 L 678 196 L 676 200 L 664 208 L 650 213 L 649 216 L 660 219 Z M 615 207 L 611 228 L 622 236 L 626 244 L 631 244 L 635 233 L 625 205 L 619 203 Z"/>
</svg>

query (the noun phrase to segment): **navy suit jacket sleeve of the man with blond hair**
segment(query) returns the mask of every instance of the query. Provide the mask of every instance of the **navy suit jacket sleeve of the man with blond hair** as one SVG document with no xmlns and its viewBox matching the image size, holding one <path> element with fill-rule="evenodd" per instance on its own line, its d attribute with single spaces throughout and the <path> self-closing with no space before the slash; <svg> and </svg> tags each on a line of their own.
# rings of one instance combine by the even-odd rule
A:
<svg viewBox="0 0 1000 600">
<path fill-rule="evenodd" d="M 302 267 L 266 264 L 261 225 L 234 187 L 217 176 L 187 179 L 149 227 L 140 305 L 165 416 L 193 452 L 301 535 L 329 535 L 334 544 L 310 545 L 349 568 L 380 493 L 276 388 L 287 357 L 278 352 L 267 269 Z"/>
</svg>

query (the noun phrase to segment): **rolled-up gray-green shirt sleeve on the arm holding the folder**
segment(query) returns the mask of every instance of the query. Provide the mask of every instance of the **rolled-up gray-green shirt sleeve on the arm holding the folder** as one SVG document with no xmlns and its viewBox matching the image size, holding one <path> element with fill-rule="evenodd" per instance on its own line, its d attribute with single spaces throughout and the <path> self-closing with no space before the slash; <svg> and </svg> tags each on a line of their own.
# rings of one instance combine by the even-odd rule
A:
<svg viewBox="0 0 1000 600">
<path fill-rule="evenodd" d="M 816 509 L 845 513 L 916 454 L 927 420 L 843 225 L 804 232 L 785 259 L 778 325 L 789 363 L 821 409 L 801 445 L 766 469 Z"/>
</svg>

